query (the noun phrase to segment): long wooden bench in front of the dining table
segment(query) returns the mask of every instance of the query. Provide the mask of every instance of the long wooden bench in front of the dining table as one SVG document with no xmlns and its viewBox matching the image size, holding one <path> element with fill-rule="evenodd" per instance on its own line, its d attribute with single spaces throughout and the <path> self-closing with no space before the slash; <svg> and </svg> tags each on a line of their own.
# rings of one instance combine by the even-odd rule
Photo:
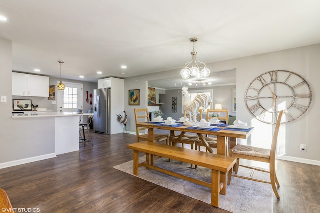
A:
<svg viewBox="0 0 320 213">
<path fill-rule="evenodd" d="M 232 167 L 236 163 L 236 158 L 233 157 L 148 141 L 129 144 L 127 148 L 133 149 L 134 175 L 138 175 L 138 168 L 140 166 L 145 166 L 146 168 L 211 188 L 211 204 L 216 207 L 219 207 L 219 194 L 226 195 L 226 173 L 231 175 Z M 139 152 L 146 153 L 146 161 L 143 163 L 139 163 Z M 212 171 L 211 183 L 156 167 L 152 163 L 154 155 L 207 167 Z"/>
</svg>

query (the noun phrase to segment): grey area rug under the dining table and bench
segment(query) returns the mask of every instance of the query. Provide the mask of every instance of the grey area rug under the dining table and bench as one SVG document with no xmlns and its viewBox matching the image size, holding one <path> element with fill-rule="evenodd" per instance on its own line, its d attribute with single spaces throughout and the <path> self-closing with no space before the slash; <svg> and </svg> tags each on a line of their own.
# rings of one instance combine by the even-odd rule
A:
<svg viewBox="0 0 320 213">
<path fill-rule="evenodd" d="M 139 162 L 145 161 L 145 156 L 139 158 Z M 157 159 L 155 165 L 169 169 L 193 178 L 211 182 L 211 171 L 205 167 L 191 168 L 190 164 L 167 158 Z M 114 166 L 113 168 L 133 175 L 133 160 Z M 240 167 L 238 174 L 249 175 L 251 170 Z M 139 168 L 137 176 L 162 187 L 176 191 L 191 198 L 211 204 L 211 190 L 207 187 L 194 184 L 155 170 Z M 268 174 L 256 171 L 254 177 L 268 180 Z M 220 194 L 220 208 L 234 213 L 272 213 L 273 191 L 270 184 L 250 181 L 232 177 L 231 184 L 227 186 L 226 195 Z"/>
</svg>

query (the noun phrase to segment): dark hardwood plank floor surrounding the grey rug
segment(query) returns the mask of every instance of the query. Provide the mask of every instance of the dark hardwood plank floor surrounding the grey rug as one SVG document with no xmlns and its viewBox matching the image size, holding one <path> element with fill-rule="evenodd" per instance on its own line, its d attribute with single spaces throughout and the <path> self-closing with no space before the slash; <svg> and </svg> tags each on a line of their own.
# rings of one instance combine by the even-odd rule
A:
<svg viewBox="0 0 320 213">
<path fill-rule="evenodd" d="M 93 147 L 81 144 L 79 152 L 0 169 L 0 188 L 13 207 L 41 213 L 228 213 L 114 169 L 133 159 L 126 145 L 135 135 L 91 135 Z M 281 199 L 274 199 L 274 212 L 320 212 L 319 168 L 278 160 Z"/>
</svg>

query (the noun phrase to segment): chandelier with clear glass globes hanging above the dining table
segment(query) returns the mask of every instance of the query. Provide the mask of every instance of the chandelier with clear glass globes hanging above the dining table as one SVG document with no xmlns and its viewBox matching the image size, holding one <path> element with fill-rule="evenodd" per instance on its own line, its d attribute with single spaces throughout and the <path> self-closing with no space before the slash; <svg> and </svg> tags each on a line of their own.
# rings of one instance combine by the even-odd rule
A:
<svg viewBox="0 0 320 213">
<path fill-rule="evenodd" d="M 188 79 L 190 76 L 200 79 L 210 75 L 210 70 L 206 67 L 205 63 L 196 60 L 197 52 L 194 51 L 194 43 L 197 40 L 197 38 L 190 38 L 190 41 L 193 42 L 193 52 L 191 52 L 192 60 L 187 62 L 181 70 L 180 74 L 182 79 Z"/>
</svg>

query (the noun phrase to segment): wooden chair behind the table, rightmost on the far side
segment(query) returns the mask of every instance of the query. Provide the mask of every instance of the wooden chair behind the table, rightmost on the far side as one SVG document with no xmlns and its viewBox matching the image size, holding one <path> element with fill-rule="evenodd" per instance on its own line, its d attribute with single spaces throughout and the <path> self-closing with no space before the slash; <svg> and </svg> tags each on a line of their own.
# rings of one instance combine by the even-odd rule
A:
<svg viewBox="0 0 320 213">
<path fill-rule="evenodd" d="M 211 119 L 212 117 L 210 117 L 210 113 L 215 113 L 215 112 L 218 112 L 218 113 L 225 113 L 225 117 L 217 117 L 219 120 L 221 119 L 223 119 L 223 120 L 225 120 L 225 123 L 226 124 L 229 124 L 229 109 L 206 109 L 206 121 L 209 121 L 209 119 Z M 205 136 L 205 140 L 208 142 L 208 144 L 209 144 L 209 146 L 211 147 L 211 148 L 217 148 L 217 137 L 215 136 L 215 137 L 212 137 L 212 136 L 209 136 L 209 135 L 206 135 Z M 226 139 L 226 142 L 228 142 L 228 139 Z M 200 150 L 200 147 L 201 146 L 203 146 L 203 147 L 205 147 L 205 145 L 203 144 L 203 142 L 201 141 L 201 139 L 197 139 L 196 141 L 195 141 L 195 145 L 196 145 L 196 147 L 197 147 L 197 149 L 198 150 Z M 227 145 L 225 146 L 226 147 L 226 153 L 228 153 L 228 147 L 229 147 L 229 145 L 228 145 L 228 143 L 227 143 Z M 208 151 L 207 150 L 207 148 L 205 148 L 205 150 L 206 151 Z"/>
</svg>

